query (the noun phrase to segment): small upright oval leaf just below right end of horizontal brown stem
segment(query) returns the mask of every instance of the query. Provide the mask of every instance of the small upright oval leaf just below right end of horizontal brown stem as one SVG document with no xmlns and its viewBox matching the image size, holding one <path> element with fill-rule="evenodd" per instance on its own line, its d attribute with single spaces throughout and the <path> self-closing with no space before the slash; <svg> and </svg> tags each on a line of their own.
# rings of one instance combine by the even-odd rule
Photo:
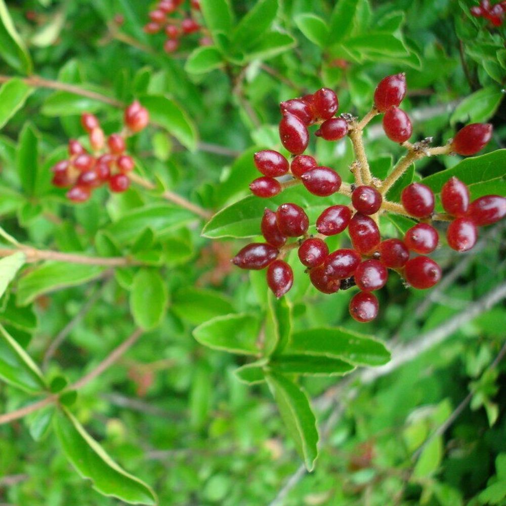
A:
<svg viewBox="0 0 506 506">
<path fill-rule="evenodd" d="M 167 303 L 167 287 L 161 274 L 153 269 L 141 269 L 135 275 L 130 293 L 130 309 L 137 325 L 146 330 L 158 326 Z"/>
</svg>

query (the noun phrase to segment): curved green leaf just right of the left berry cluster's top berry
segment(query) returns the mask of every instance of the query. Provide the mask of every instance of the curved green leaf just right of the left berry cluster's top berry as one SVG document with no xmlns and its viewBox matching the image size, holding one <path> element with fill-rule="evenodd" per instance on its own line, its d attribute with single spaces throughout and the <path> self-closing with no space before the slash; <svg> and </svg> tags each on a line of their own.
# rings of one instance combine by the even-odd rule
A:
<svg viewBox="0 0 506 506">
<path fill-rule="evenodd" d="M 139 98 L 149 111 L 150 120 L 173 135 L 183 146 L 194 150 L 197 146 L 197 129 L 191 118 L 176 103 L 162 95 L 145 95 Z"/>
</svg>

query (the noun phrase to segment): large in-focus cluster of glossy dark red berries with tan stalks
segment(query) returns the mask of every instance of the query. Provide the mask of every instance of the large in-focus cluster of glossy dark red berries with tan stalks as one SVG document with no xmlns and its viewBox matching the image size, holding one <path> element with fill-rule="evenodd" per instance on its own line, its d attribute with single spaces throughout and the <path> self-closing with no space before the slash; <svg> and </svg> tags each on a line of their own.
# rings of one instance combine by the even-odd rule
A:
<svg viewBox="0 0 506 506">
<path fill-rule="evenodd" d="M 476 242 L 477 227 L 506 216 L 506 198 L 487 195 L 470 203 L 467 186 L 453 177 L 441 191 L 445 214 L 435 213 L 434 193 L 421 183 L 406 186 L 400 203 L 386 200 L 389 188 L 415 159 L 443 153 L 475 154 L 485 146 L 492 133 L 490 124 L 474 123 L 462 128 L 446 146 L 429 148 L 430 139 L 409 144 L 406 141 L 411 136 L 411 121 L 399 109 L 405 94 L 404 74 L 384 78 L 375 90 L 373 108 L 360 122 L 350 114 L 336 117 L 338 97 L 326 88 L 313 95 L 282 102 L 279 135 L 282 145 L 292 155 L 291 162 L 274 150 L 256 153 L 254 161 L 262 177 L 251 183 L 252 193 L 271 197 L 287 186 L 302 183 L 317 196 L 344 194 L 351 198 L 351 205 L 327 207 L 316 220 L 317 234 L 308 232 L 309 218 L 296 203 L 283 203 L 275 211 L 266 208 L 261 222 L 266 242 L 248 244 L 232 262 L 242 269 L 267 268 L 267 283 L 279 298 L 293 284 L 293 271 L 284 257 L 297 248 L 311 283 L 321 292 L 330 294 L 358 287 L 360 291 L 351 299 L 349 310 L 360 322 L 371 321 L 377 316 L 378 300 L 372 292 L 385 286 L 388 269 L 399 273 L 414 288 L 434 286 L 441 279 L 441 268 L 427 255 L 438 246 L 439 235 L 430 223 L 450 221 L 448 244 L 457 251 L 466 251 Z M 363 129 L 370 119 L 382 113 L 387 137 L 408 149 L 408 154 L 399 160 L 385 181 L 371 176 L 362 145 Z M 325 140 L 350 137 L 357 158 L 350 167 L 355 178 L 353 184 L 343 183 L 334 170 L 318 165 L 313 156 L 303 154 L 309 145 L 309 126 L 313 124 L 319 125 L 315 135 Z M 282 182 L 277 179 L 280 177 Z M 401 214 L 419 223 L 403 238 L 382 240 L 378 217 L 385 212 Z M 348 230 L 351 247 L 330 252 L 325 239 L 345 230 Z M 297 240 L 288 242 L 289 238 Z"/>
</svg>

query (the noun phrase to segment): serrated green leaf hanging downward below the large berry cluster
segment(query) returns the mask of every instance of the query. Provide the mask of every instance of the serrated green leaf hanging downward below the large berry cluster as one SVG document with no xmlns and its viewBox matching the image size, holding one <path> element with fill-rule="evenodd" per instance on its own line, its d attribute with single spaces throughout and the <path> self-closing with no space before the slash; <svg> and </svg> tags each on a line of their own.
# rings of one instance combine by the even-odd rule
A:
<svg viewBox="0 0 506 506">
<path fill-rule="evenodd" d="M 266 376 L 269 388 L 289 435 L 308 471 L 312 471 L 318 456 L 316 418 L 304 391 L 281 374 Z"/>
</svg>

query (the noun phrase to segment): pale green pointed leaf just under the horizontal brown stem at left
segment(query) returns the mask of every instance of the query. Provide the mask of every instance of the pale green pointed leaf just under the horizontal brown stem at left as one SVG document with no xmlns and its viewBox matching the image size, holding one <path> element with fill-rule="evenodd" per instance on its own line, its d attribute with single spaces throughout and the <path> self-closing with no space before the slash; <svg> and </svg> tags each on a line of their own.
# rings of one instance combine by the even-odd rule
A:
<svg viewBox="0 0 506 506">
<path fill-rule="evenodd" d="M 105 269 L 96 265 L 46 262 L 19 280 L 18 304 L 26 306 L 43 293 L 87 283 L 98 278 Z"/>
</svg>

